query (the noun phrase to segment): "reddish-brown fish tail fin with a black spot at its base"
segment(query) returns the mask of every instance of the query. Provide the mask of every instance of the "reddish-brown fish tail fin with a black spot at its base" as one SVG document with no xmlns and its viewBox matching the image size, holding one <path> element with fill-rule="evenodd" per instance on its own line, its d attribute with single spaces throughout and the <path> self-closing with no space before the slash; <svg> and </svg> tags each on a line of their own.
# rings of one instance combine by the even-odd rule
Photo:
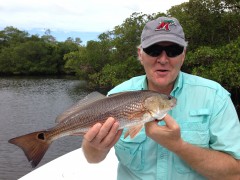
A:
<svg viewBox="0 0 240 180">
<path fill-rule="evenodd" d="M 46 138 L 47 131 L 38 131 L 10 139 L 8 142 L 20 147 L 32 167 L 36 167 L 52 141 Z"/>
</svg>

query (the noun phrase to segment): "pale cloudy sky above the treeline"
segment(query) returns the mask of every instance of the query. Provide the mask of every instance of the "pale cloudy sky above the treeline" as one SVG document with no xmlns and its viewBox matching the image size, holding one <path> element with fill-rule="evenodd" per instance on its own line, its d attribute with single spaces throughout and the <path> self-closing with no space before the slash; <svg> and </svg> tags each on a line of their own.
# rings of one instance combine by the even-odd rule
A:
<svg viewBox="0 0 240 180">
<path fill-rule="evenodd" d="M 43 35 L 50 29 L 58 41 L 96 40 L 134 12 L 165 13 L 183 2 L 188 0 L 0 0 L 0 30 L 13 26 Z"/>
</svg>

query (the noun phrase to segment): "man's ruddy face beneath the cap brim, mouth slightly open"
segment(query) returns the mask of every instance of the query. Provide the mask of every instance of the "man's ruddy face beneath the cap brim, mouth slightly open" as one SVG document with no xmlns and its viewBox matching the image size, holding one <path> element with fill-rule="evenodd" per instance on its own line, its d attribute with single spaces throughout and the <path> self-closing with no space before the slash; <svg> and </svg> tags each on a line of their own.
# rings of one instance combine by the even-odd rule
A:
<svg viewBox="0 0 240 180">
<path fill-rule="evenodd" d="M 185 50 L 183 50 L 183 52 L 176 57 L 169 57 L 172 56 L 171 49 L 176 49 L 172 48 L 171 46 L 174 46 L 176 44 L 172 42 L 161 42 L 157 45 L 162 46 L 163 49 L 166 47 L 167 50 L 163 50 L 161 52 L 161 47 L 160 49 L 156 47 L 152 49 L 150 48 L 146 52 L 144 52 L 145 50 L 139 49 L 139 59 L 145 69 L 149 89 L 160 91 L 161 93 L 170 94 L 173 89 L 174 82 L 181 69 L 181 66 L 183 65 L 185 59 Z M 161 52 L 160 55 L 156 56 L 154 55 L 154 53 L 151 54 L 151 52 L 154 51 L 158 52 L 158 49 L 159 52 Z M 170 49 L 170 53 L 166 53 L 168 49 Z M 173 55 L 174 53 L 176 54 L 176 52 L 173 52 Z M 167 54 L 169 54 L 169 56 Z"/>
</svg>

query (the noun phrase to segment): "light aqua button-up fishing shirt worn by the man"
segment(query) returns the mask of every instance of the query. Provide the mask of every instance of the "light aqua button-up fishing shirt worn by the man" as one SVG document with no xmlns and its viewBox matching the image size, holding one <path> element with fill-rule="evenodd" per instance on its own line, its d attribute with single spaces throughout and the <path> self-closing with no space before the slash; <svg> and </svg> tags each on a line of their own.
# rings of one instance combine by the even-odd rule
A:
<svg viewBox="0 0 240 180">
<path fill-rule="evenodd" d="M 123 82 L 108 94 L 145 89 L 148 89 L 147 78 L 142 75 Z M 239 118 L 230 94 L 222 86 L 180 72 L 171 95 L 177 98 L 177 105 L 169 114 L 179 124 L 184 141 L 240 159 Z M 144 129 L 134 139 L 124 139 L 122 135 L 115 152 L 119 160 L 118 180 L 206 179 L 176 154 L 147 137 Z"/>
</svg>

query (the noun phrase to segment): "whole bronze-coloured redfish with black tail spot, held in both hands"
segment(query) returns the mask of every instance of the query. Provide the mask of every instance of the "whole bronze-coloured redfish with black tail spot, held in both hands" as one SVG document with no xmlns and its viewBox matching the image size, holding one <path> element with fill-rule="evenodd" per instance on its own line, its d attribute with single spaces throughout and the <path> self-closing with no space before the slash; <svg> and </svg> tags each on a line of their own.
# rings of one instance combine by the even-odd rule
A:
<svg viewBox="0 0 240 180">
<path fill-rule="evenodd" d="M 94 124 L 115 118 L 124 137 L 134 138 L 146 122 L 162 119 L 176 105 L 176 98 L 158 92 L 128 91 L 108 97 L 93 92 L 56 118 L 57 125 L 9 140 L 20 147 L 32 167 L 36 167 L 54 140 L 69 135 L 84 135 Z"/>
</svg>

